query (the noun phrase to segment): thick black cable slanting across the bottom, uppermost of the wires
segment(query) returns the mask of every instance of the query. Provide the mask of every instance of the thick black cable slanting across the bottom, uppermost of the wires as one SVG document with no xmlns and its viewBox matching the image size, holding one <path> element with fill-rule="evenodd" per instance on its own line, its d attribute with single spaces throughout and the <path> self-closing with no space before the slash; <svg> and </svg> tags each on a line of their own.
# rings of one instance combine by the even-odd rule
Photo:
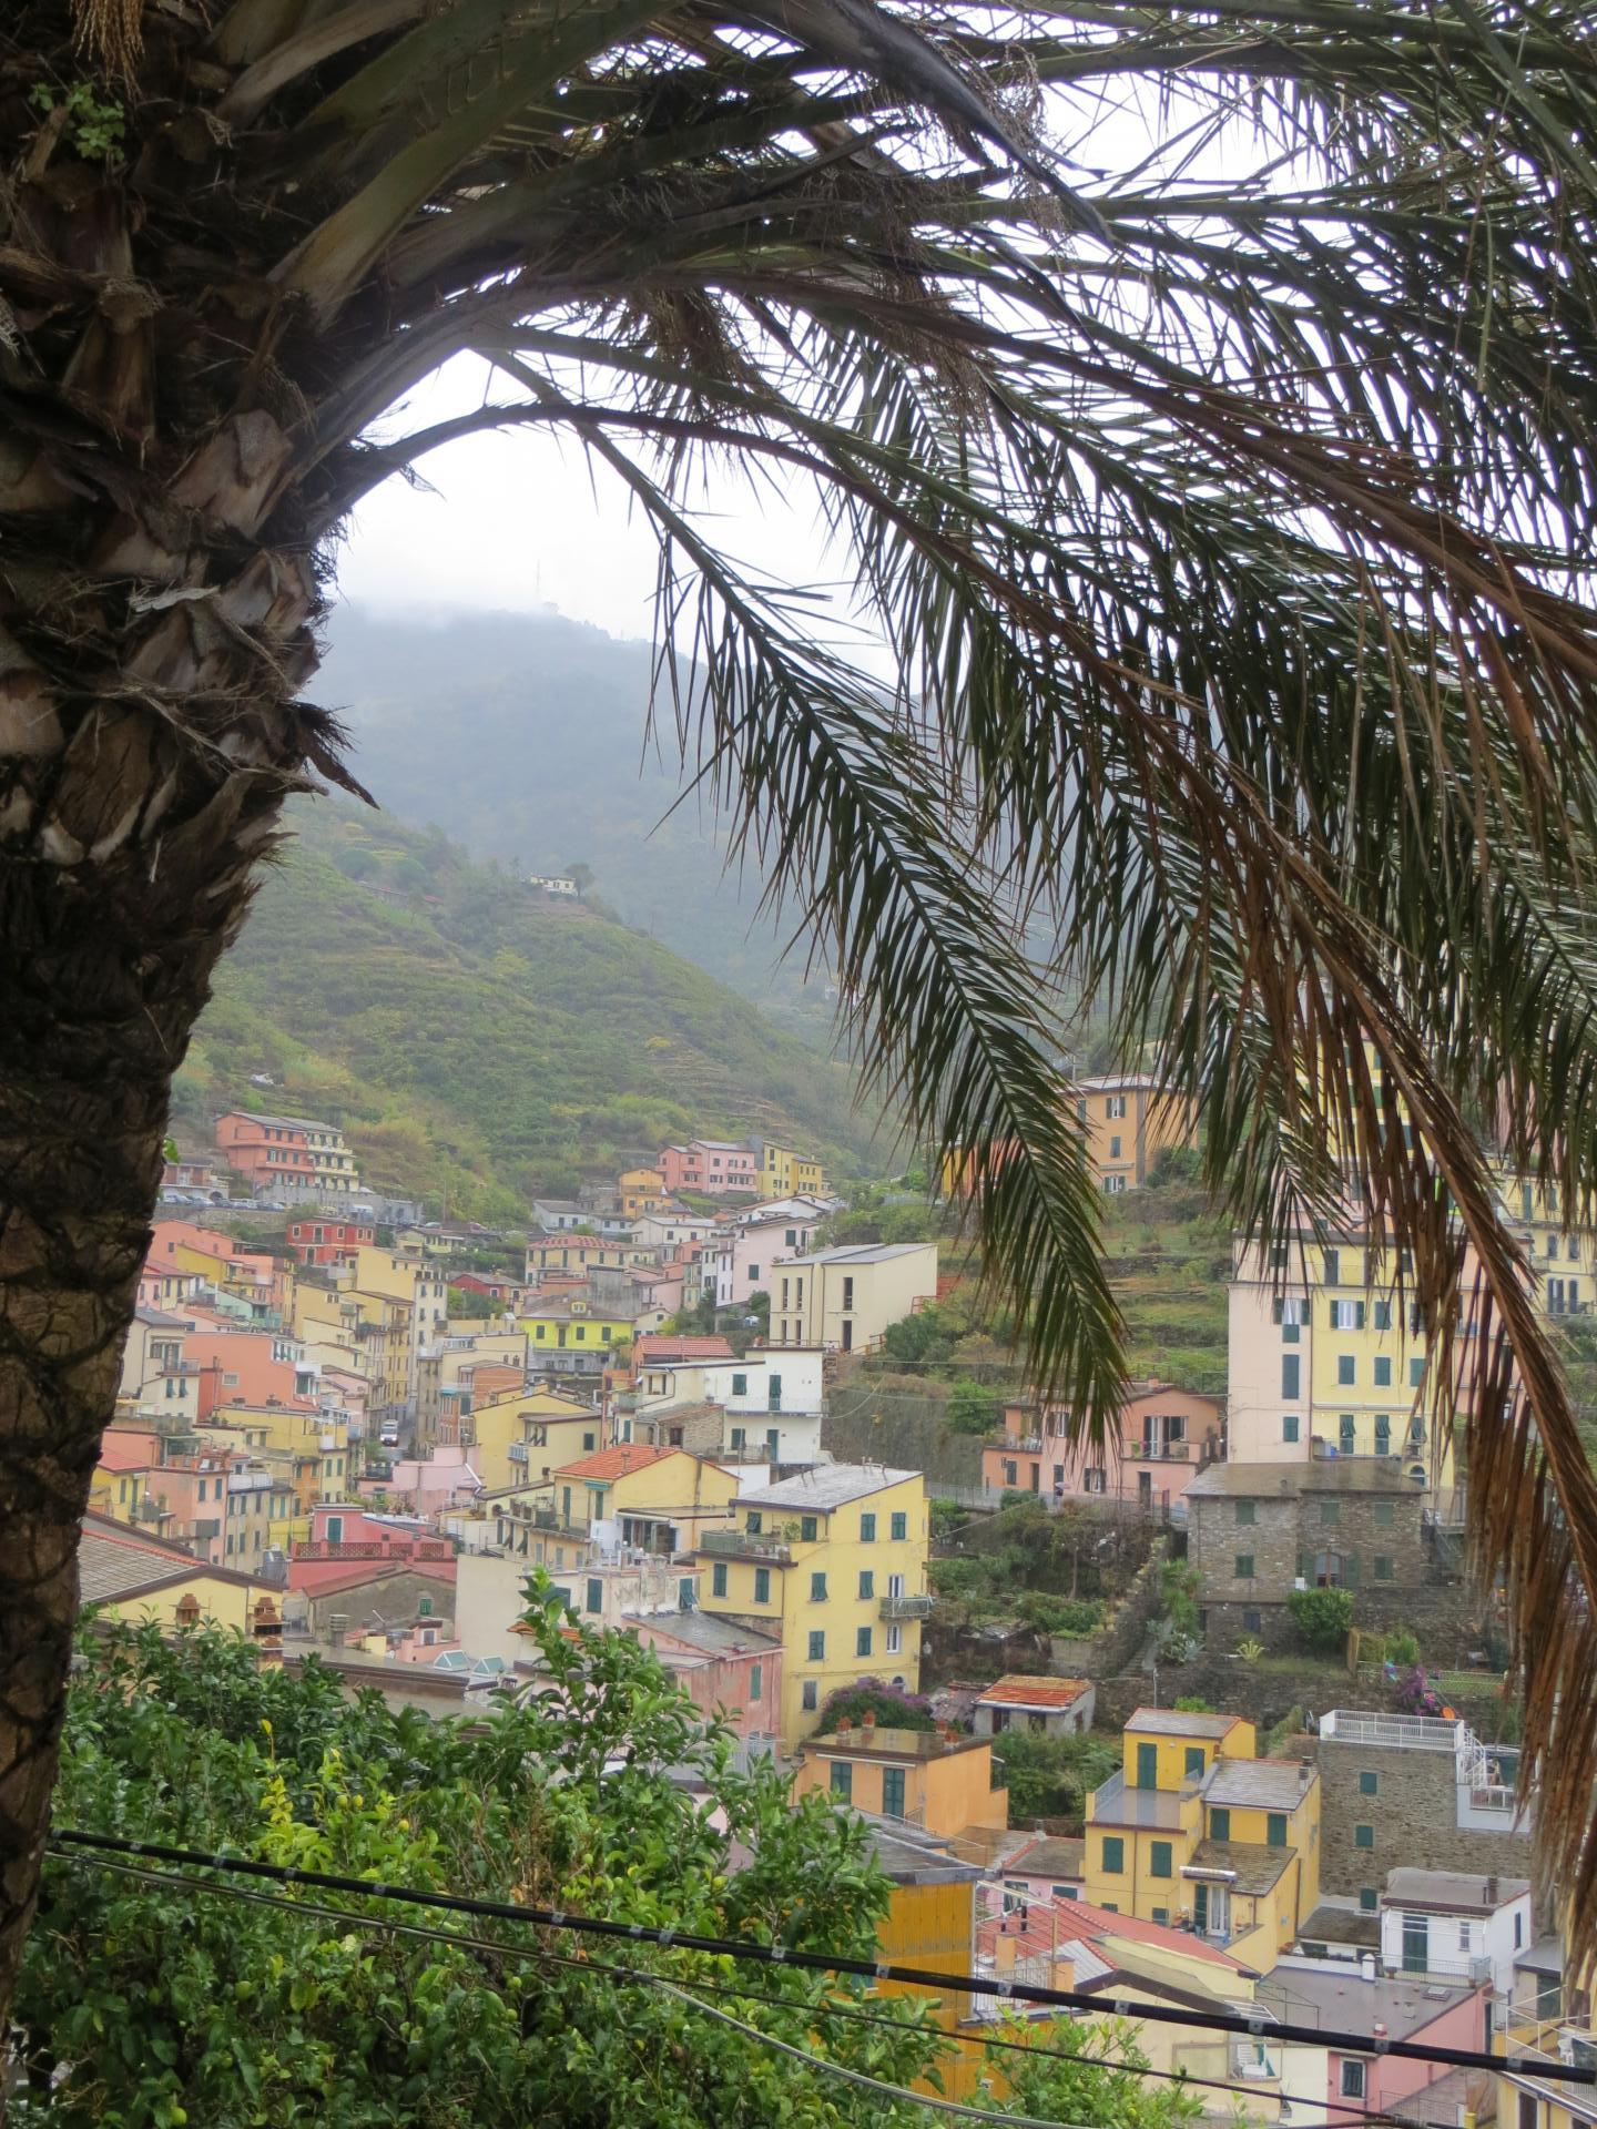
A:
<svg viewBox="0 0 1597 2129">
<path fill-rule="evenodd" d="M 1246 2033 L 1250 2040 L 1301 2040 L 1310 2048 L 1331 2048 L 1341 2054 L 1393 2054 L 1418 2063 L 1446 2063 L 1450 2069 L 1512 2069 L 1514 2059 L 1486 2054 L 1480 2048 L 1420 2046 L 1412 2040 L 1390 2040 L 1388 2035 L 1337 2033 L 1314 2025 L 1290 2025 L 1267 2016 L 1263 2010 L 1237 2012 L 1188 2012 L 1169 2010 L 1163 2003 L 1137 2003 L 1131 1997 L 1088 1995 L 1082 1988 L 1043 1988 L 1037 1982 L 999 1980 L 984 1974 L 939 1974 L 931 1967 L 901 1967 L 886 1959 L 845 1959 L 835 1952 L 805 1952 L 786 1944 L 750 1944 L 735 1937 L 707 1937 L 684 1929 L 649 1929 L 643 1922 L 613 1922 L 596 1914 L 569 1914 L 564 1908 L 534 1908 L 503 1899 L 471 1899 L 462 1893 L 415 1891 L 411 1886 L 373 1884 L 364 1878 L 347 1878 L 334 1871 L 292 1869 L 279 1863 L 258 1863 L 247 1856 L 204 1854 L 194 1848 L 170 1848 L 162 1842 L 130 1842 L 111 1833 L 83 1833 L 64 1829 L 51 1835 L 55 1850 L 87 1848 L 117 1856 L 151 1856 L 158 1863 L 177 1863 L 198 1869 L 232 1871 L 245 1878 L 266 1878 L 273 1884 L 307 1884 L 324 1893 L 347 1893 L 356 1899 L 398 1901 L 413 1908 L 437 1908 L 445 1914 L 473 1914 L 496 1922 L 520 1927 L 564 1929 L 573 1935 L 615 1937 L 630 1944 L 658 1944 L 664 1950 L 677 1946 L 684 1952 L 711 1952 L 720 1959 L 739 1959 L 754 1965 L 798 1967 L 813 1974 L 854 1974 L 862 1980 L 903 1982 L 909 1988 L 954 1991 L 958 1995 L 1001 1997 L 1016 2003 L 1041 2003 L 1054 2010 L 1105 2012 L 1139 2018 L 1148 2025 L 1184 2025 L 1212 2033 Z M 1597 2067 L 1586 2069 L 1574 2063 L 1535 2063 L 1540 2078 L 1563 2084 L 1597 2086 Z"/>
</svg>

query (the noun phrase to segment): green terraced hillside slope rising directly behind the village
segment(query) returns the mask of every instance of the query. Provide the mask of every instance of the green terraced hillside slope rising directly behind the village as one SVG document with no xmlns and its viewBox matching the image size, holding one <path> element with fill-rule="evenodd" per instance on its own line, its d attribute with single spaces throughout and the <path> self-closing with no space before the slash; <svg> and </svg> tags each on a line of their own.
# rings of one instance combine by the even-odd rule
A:
<svg viewBox="0 0 1597 2129">
<path fill-rule="evenodd" d="M 324 1113 L 375 1186 L 498 1218 L 692 1130 L 858 1173 L 847 1069 L 660 943 L 392 815 L 317 801 L 294 826 L 179 1073 L 179 1137 L 232 1103 Z"/>
</svg>

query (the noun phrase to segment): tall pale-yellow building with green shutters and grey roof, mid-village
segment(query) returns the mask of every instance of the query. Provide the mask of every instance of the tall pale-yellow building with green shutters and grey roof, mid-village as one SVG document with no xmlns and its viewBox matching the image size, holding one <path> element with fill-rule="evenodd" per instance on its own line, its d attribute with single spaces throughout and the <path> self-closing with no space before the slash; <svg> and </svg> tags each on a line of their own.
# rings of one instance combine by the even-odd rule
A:
<svg viewBox="0 0 1597 2129">
<path fill-rule="evenodd" d="M 784 1750 L 856 1678 L 918 1690 L 926 1541 L 926 1480 L 882 1465 L 816 1465 L 743 1495 L 735 1529 L 707 1539 L 705 1612 L 781 1641 Z"/>
</svg>

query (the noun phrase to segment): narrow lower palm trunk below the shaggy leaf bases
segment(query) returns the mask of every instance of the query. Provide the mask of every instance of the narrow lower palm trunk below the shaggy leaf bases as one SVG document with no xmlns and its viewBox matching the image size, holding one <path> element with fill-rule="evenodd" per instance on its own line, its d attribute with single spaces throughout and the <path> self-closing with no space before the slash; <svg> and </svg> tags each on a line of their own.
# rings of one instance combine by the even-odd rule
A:
<svg viewBox="0 0 1597 2129">
<path fill-rule="evenodd" d="M 124 792 L 126 798 L 126 792 Z M 79 1526 L 162 1173 L 172 1071 L 243 911 L 204 877 L 0 858 L 0 2014 L 34 1910 Z M 162 928 L 149 920 L 160 907 Z"/>
</svg>

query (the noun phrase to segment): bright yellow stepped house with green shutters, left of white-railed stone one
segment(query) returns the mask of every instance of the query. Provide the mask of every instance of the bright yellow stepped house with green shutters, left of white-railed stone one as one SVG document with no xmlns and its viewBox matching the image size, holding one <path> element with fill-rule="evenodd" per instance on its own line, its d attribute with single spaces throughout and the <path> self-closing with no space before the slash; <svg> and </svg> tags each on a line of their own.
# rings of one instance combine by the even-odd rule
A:
<svg viewBox="0 0 1597 2129">
<path fill-rule="evenodd" d="M 1267 1974 L 1320 1899 L 1320 1776 L 1254 1754 L 1239 1716 L 1139 1707 L 1120 1771 L 1088 1797 L 1086 1899 Z"/>
</svg>

